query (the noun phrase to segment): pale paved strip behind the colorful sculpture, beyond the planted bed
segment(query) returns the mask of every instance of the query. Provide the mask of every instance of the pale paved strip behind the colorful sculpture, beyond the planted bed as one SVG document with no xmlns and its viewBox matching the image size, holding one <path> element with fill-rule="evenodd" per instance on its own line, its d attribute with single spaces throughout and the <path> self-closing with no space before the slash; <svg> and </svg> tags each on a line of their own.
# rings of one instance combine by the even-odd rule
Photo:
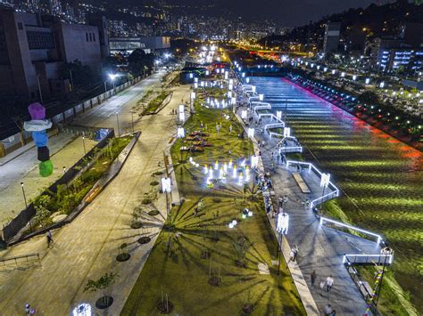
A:
<svg viewBox="0 0 423 316">
<path fill-rule="evenodd" d="M 96 142 L 73 134 L 61 133 L 50 137 L 48 148 L 53 161 L 53 174 L 43 178 L 39 175 L 37 160 L 37 147 L 32 147 L 20 156 L 9 160 L 0 166 L 0 223 L 7 223 L 25 208 L 25 199 L 21 182 L 24 183 L 27 203 L 34 199 L 39 191 L 48 187 L 63 174 L 63 166 L 73 166 L 85 154 L 85 150 L 91 150 Z"/>
</svg>

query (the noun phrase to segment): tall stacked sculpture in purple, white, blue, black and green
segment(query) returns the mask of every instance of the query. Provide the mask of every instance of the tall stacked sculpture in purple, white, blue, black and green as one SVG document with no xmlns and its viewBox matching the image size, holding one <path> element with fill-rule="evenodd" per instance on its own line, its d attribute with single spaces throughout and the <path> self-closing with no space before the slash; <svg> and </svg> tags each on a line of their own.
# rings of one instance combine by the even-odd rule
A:
<svg viewBox="0 0 423 316">
<path fill-rule="evenodd" d="M 46 119 L 46 108 L 41 104 L 32 103 L 28 107 L 30 121 L 23 124 L 25 131 L 32 133 L 32 139 L 37 146 L 37 158 L 40 161 L 38 168 L 39 174 L 43 177 L 53 174 L 53 163 L 50 160 L 50 151 L 48 150 L 48 135 L 46 130 L 52 127 L 52 122 Z"/>
</svg>

